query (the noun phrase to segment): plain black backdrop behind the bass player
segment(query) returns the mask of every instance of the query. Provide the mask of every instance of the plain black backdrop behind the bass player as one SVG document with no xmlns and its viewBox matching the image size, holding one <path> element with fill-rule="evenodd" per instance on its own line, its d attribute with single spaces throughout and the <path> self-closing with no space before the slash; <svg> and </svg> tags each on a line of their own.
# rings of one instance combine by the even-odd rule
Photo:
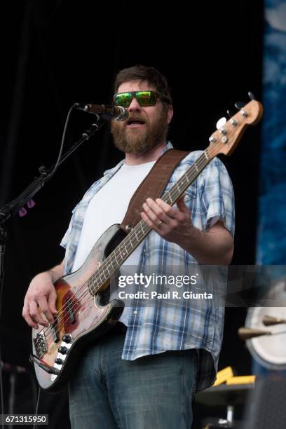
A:
<svg viewBox="0 0 286 429">
<path fill-rule="evenodd" d="M 40 165 L 55 162 L 67 111 L 76 101 L 110 103 L 116 72 L 147 64 L 168 77 L 177 149 L 204 149 L 217 119 L 247 100 L 261 99 L 262 0 L 71 2 L 11 1 L 1 25 L 1 205 L 22 191 Z M 67 146 L 93 121 L 76 112 Z M 236 193 L 233 264 L 254 264 L 259 126 L 247 131 L 231 158 L 222 158 Z M 64 256 L 58 243 L 71 210 L 88 186 L 122 158 L 106 125 L 62 165 L 25 217 L 8 224 L 1 320 L 2 359 L 29 365 L 30 332 L 22 301 L 32 276 Z M 236 334 L 245 308 L 227 309 L 219 368 L 250 371 Z M 21 380 L 18 391 L 22 391 Z M 19 393 L 20 394 L 20 393 Z M 63 400 L 64 402 L 64 400 Z"/>
</svg>

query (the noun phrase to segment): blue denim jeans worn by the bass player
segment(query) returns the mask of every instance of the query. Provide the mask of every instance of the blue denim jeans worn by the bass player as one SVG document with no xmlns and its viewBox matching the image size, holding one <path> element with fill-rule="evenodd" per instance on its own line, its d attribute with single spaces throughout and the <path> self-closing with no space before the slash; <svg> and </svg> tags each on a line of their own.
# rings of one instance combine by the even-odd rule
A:
<svg viewBox="0 0 286 429">
<path fill-rule="evenodd" d="M 73 429 L 191 428 L 196 350 L 122 360 L 124 334 L 97 341 L 69 381 Z"/>
</svg>

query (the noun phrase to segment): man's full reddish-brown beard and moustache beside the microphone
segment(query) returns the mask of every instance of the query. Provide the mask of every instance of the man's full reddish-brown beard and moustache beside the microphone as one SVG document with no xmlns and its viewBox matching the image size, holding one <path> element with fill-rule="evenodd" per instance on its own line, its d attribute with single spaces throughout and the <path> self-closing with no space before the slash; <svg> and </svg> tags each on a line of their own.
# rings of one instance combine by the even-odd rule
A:
<svg viewBox="0 0 286 429">
<path fill-rule="evenodd" d="M 146 154 L 158 144 L 165 142 L 168 132 L 168 111 L 162 109 L 158 119 L 154 123 L 146 122 L 144 128 L 126 130 L 123 123 L 111 123 L 111 134 L 114 137 L 114 145 L 125 154 Z M 129 120 L 141 119 L 130 115 Z"/>
</svg>

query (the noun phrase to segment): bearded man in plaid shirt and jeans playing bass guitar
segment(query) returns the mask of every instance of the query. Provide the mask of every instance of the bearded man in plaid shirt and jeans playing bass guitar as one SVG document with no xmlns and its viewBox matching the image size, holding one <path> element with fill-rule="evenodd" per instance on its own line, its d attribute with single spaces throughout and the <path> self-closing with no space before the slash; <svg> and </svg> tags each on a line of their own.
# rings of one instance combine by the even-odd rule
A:
<svg viewBox="0 0 286 429">
<path fill-rule="evenodd" d="M 36 275 L 25 297 L 23 316 L 31 327 L 53 322 L 55 289 L 60 276 L 78 269 L 111 224 L 121 223 L 132 194 L 163 151 L 173 109 L 165 78 L 153 67 L 121 70 L 114 103 L 129 118 L 111 124 L 114 143 L 125 160 L 104 173 L 73 212 L 62 240 L 62 264 Z M 141 91 L 141 92 L 140 92 Z M 142 93 L 143 91 L 143 93 Z M 170 189 L 199 151 L 179 163 Z M 186 202 L 185 202 L 186 200 Z M 147 201 L 142 219 L 151 233 L 127 264 L 146 273 L 150 266 L 177 267 L 189 273 L 193 264 L 227 265 L 233 254 L 233 191 L 224 165 L 214 159 L 171 207 L 160 198 Z M 190 210 L 191 209 L 191 210 Z M 121 327 L 91 344 L 69 382 L 73 428 L 190 428 L 196 390 L 214 381 L 222 344 L 223 309 L 132 301 Z"/>
</svg>

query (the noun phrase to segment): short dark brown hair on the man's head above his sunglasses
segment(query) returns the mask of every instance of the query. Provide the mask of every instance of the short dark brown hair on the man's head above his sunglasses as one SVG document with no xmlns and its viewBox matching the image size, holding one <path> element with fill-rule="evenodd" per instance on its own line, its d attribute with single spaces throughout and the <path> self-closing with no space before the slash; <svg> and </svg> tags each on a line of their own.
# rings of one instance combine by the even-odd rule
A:
<svg viewBox="0 0 286 429">
<path fill-rule="evenodd" d="M 154 67 L 137 64 L 133 67 L 128 67 L 128 69 L 118 71 L 114 81 L 114 93 L 117 93 L 121 83 L 128 81 L 147 81 L 151 86 L 154 86 L 158 93 L 165 96 L 162 100 L 163 102 L 172 104 L 170 87 L 168 86 L 167 79 Z"/>
</svg>

